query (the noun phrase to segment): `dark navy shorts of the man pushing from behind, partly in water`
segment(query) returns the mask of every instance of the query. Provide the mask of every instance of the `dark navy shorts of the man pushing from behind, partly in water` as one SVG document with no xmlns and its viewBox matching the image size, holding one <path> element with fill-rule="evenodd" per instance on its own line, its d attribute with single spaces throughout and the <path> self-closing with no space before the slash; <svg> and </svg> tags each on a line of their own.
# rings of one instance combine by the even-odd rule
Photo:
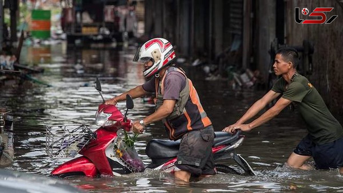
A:
<svg viewBox="0 0 343 193">
<path fill-rule="evenodd" d="M 294 149 L 294 153 L 301 156 L 312 156 L 317 169 L 329 169 L 343 167 L 342 149 L 343 137 L 326 144 L 315 144 L 307 135 Z"/>
</svg>

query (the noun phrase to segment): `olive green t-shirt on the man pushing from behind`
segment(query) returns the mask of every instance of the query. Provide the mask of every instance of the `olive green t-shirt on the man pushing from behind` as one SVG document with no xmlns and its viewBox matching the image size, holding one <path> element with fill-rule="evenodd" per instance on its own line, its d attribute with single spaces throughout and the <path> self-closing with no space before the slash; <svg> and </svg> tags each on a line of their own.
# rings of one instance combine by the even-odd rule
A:
<svg viewBox="0 0 343 193">
<path fill-rule="evenodd" d="M 332 116 L 317 89 L 304 76 L 294 74 L 289 84 L 281 77 L 272 91 L 281 93 L 282 98 L 296 104 L 316 144 L 325 144 L 343 136 L 342 125 Z"/>
</svg>

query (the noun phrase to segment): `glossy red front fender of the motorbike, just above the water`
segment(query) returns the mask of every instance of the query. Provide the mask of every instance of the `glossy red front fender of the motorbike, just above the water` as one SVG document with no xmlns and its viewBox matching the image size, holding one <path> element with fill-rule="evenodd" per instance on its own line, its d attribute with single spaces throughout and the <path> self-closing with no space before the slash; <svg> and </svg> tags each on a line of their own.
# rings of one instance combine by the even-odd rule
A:
<svg viewBox="0 0 343 193">
<path fill-rule="evenodd" d="M 92 163 L 91 160 L 87 159 L 86 157 L 81 156 L 61 164 L 52 170 L 50 174 L 61 175 L 71 172 L 82 172 L 85 176 L 92 178 L 94 178 L 98 173 L 94 163 Z"/>
</svg>

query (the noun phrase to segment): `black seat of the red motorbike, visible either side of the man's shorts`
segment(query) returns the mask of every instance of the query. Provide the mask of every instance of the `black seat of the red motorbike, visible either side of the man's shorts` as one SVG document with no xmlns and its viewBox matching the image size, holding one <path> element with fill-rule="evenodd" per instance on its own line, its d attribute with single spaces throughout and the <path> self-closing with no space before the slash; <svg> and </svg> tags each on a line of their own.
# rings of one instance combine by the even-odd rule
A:
<svg viewBox="0 0 343 193">
<path fill-rule="evenodd" d="M 227 132 L 214 132 L 214 144 L 213 147 L 220 145 L 230 144 L 236 141 L 239 137 L 240 131 L 231 135 Z M 152 139 L 146 145 L 145 153 L 150 158 L 171 158 L 176 157 L 179 151 L 180 140 L 171 141 L 165 139 Z"/>
</svg>

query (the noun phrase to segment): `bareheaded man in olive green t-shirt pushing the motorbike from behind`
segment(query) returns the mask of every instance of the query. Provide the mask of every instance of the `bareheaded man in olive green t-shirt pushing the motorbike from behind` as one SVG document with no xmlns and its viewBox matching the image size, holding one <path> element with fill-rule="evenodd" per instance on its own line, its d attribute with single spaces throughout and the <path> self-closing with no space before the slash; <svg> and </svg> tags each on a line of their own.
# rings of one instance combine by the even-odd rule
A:
<svg viewBox="0 0 343 193">
<path fill-rule="evenodd" d="M 313 157 L 316 168 L 340 168 L 340 173 L 343 173 L 343 128 L 332 116 L 316 88 L 297 73 L 297 64 L 298 53 L 295 49 L 278 50 L 273 68 L 275 74 L 282 77 L 235 124 L 224 128 L 223 131 L 250 131 L 271 120 L 293 102 L 304 118 L 309 134 L 300 141 L 289 156 L 287 164 L 293 168 L 308 170 L 311 167 L 304 163 Z M 280 94 L 281 98 L 273 107 L 251 123 L 244 124 Z"/>
</svg>

